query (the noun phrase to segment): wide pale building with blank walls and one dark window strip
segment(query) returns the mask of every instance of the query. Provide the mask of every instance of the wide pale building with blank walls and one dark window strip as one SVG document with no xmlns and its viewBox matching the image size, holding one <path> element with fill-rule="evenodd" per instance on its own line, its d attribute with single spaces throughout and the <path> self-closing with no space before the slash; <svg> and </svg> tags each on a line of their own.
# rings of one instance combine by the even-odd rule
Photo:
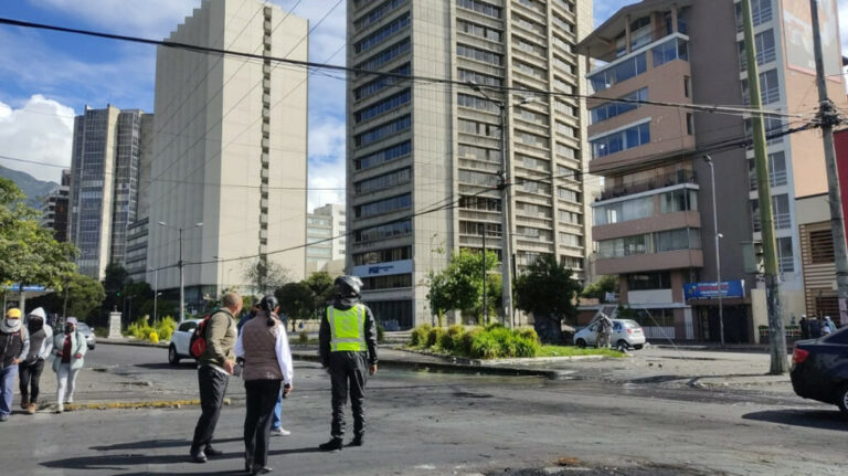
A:
<svg viewBox="0 0 848 476">
<path fill-rule="evenodd" d="M 306 36 L 305 19 L 268 2 L 204 0 L 168 40 L 306 61 Z M 230 268 L 227 285 L 253 292 L 244 275 L 257 260 L 303 278 L 306 77 L 271 59 L 158 49 L 147 267 L 178 263 L 183 229 L 190 307 L 214 296 Z M 177 295 L 176 266 L 157 277 Z"/>
</svg>

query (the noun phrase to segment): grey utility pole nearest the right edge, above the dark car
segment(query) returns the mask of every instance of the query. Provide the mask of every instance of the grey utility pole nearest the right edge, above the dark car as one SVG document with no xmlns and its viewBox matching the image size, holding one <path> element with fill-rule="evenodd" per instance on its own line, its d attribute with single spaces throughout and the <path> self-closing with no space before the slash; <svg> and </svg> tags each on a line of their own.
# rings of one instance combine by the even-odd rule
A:
<svg viewBox="0 0 848 476">
<path fill-rule="evenodd" d="M 822 32 L 818 24 L 818 1 L 809 0 L 809 13 L 813 19 L 813 47 L 816 56 L 816 83 L 818 85 L 818 120 L 822 126 L 822 139 L 825 145 L 825 165 L 827 167 L 827 198 L 830 203 L 830 230 L 834 235 L 834 261 L 836 263 L 836 286 L 839 296 L 839 324 L 848 325 L 848 251 L 845 243 L 842 218 L 842 198 L 839 191 L 839 171 L 836 168 L 834 148 L 834 126 L 839 124 L 839 116 L 827 94 L 825 81 L 825 61 L 822 56 Z"/>
</svg>

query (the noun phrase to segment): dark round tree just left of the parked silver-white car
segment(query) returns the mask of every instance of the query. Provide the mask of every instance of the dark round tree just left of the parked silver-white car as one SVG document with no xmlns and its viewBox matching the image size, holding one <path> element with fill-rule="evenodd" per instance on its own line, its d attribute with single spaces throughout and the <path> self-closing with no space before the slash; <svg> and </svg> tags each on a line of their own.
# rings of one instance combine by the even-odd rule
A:
<svg viewBox="0 0 848 476">
<path fill-rule="evenodd" d="M 516 306 L 532 313 L 537 331 L 544 330 L 539 332 L 544 340 L 561 341 L 562 320 L 577 316 L 575 302 L 581 286 L 572 276 L 570 268 L 545 254 L 516 279 Z"/>
</svg>

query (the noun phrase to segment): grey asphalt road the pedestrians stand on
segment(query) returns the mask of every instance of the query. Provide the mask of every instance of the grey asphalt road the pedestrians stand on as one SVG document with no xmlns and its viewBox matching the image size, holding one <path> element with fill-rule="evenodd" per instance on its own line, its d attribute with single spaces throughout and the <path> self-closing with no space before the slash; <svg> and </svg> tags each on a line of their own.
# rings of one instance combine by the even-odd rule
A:
<svg viewBox="0 0 848 476">
<path fill-rule="evenodd" d="M 87 378 L 121 382 L 120 399 L 197 398 L 192 364 L 165 359 L 163 349 L 100 345 L 87 366 L 105 371 Z M 518 476 L 556 474 L 558 461 L 586 475 L 844 474 L 848 422 L 791 395 L 392 369 L 369 382 L 365 446 L 324 454 L 316 447 L 329 436 L 329 380 L 310 362 L 295 372 L 284 403 L 293 434 L 272 441 L 275 474 Z M 81 388 L 77 400 L 103 398 L 95 388 Z M 225 455 L 205 465 L 188 462 L 197 406 L 92 410 L 14 414 L 0 424 L 0 473 L 239 474 L 241 381 L 229 394 L 216 431 Z"/>
</svg>

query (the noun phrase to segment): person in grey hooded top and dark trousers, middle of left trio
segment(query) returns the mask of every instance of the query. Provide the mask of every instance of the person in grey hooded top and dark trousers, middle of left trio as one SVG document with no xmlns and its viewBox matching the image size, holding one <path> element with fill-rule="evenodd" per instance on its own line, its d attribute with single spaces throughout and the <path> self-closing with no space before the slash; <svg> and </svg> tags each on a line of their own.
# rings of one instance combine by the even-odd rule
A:
<svg viewBox="0 0 848 476">
<path fill-rule="evenodd" d="M 46 324 L 46 315 L 41 307 L 35 308 L 26 318 L 26 331 L 30 335 L 30 351 L 18 364 L 21 389 L 21 409 L 33 414 L 39 409 L 39 382 L 44 370 L 44 360 L 53 350 L 53 329 Z"/>
</svg>

